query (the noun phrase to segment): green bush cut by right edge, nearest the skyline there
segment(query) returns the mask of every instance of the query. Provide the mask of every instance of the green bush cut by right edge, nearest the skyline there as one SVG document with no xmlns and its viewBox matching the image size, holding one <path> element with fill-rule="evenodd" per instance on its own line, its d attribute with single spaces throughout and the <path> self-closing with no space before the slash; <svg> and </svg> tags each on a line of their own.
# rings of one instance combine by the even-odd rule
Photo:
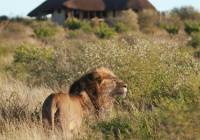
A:
<svg viewBox="0 0 200 140">
<path fill-rule="evenodd" d="M 193 32 L 200 32 L 200 22 L 185 21 L 185 32 L 191 34 Z"/>
</svg>

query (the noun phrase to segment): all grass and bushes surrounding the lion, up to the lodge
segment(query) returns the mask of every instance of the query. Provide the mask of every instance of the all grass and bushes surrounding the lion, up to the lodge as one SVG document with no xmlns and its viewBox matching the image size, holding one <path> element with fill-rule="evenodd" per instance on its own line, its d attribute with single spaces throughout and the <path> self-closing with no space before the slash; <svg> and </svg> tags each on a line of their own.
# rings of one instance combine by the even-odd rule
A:
<svg viewBox="0 0 200 140">
<path fill-rule="evenodd" d="M 86 71 L 105 66 L 128 84 L 102 120 L 86 119 L 77 140 L 200 138 L 200 13 L 122 12 L 98 22 L 0 18 L 0 139 L 47 135 L 41 105 Z"/>
</svg>

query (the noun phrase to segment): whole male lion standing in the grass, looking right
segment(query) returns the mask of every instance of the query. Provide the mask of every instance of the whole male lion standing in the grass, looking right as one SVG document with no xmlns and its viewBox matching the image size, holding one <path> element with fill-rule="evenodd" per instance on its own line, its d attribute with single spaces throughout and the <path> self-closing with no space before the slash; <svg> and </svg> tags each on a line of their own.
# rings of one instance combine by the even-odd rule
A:
<svg viewBox="0 0 200 140">
<path fill-rule="evenodd" d="M 95 110 L 97 116 L 112 105 L 115 96 L 125 97 L 126 84 L 104 67 L 88 72 L 75 81 L 69 93 L 49 95 L 42 106 L 45 126 L 54 129 L 60 124 L 63 132 L 78 130 L 85 115 Z"/>
</svg>

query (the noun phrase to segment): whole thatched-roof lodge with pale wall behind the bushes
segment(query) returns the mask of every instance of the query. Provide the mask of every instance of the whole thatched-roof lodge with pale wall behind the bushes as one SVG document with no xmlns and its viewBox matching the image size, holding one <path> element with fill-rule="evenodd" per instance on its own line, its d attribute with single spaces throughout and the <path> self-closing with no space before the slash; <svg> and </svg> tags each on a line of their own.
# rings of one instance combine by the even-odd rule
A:
<svg viewBox="0 0 200 140">
<path fill-rule="evenodd" d="M 148 0 L 47 0 L 31 11 L 28 16 L 42 17 L 52 14 L 53 21 L 62 24 L 69 17 L 93 18 L 113 16 L 116 12 L 132 9 L 155 9 Z"/>
</svg>

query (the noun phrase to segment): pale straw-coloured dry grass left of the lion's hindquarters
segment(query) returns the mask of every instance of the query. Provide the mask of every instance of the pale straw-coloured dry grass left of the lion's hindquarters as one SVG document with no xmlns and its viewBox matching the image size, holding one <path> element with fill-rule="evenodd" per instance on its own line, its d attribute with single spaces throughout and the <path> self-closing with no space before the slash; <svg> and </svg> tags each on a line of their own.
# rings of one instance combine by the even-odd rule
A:
<svg viewBox="0 0 200 140">
<path fill-rule="evenodd" d="M 5 140 L 44 139 L 41 104 L 52 90 L 30 88 L 8 76 L 0 76 L 0 137 Z"/>
</svg>

